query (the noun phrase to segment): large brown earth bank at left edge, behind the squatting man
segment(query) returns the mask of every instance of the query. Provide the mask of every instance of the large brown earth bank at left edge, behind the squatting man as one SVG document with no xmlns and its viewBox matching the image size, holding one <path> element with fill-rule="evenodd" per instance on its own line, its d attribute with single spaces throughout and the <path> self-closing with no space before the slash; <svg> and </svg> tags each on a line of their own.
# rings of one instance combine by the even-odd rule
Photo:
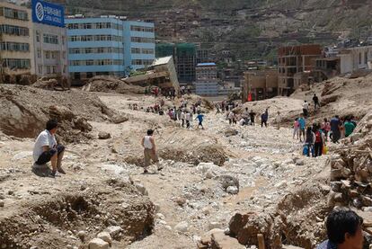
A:
<svg viewBox="0 0 372 249">
<path fill-rule="evenodd" d="M 61 121 L 61 137 L 72 142 L 71 139 L 78 139 L 77 134 L 92 130 L 87 120 L 109 120 L 114 114 L 94 94 L 0 86 L 0 129 L 17 138 L 35 138 L 45 129 L 47 120 L 53 118 Z"/>
</svg>

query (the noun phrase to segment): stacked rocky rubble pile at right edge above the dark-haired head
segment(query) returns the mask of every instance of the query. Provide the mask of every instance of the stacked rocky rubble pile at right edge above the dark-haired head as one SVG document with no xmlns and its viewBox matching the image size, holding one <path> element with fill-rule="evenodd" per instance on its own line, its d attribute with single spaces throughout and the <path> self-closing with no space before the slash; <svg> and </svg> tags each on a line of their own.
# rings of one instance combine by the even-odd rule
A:
<svg viewBox="0 0 372 249">
<path fill-rule="evenodd" d="M 358 125 L 343 146 L 334 150 L 331 166 L 332 201 L 372 210 L 372 112 Z"/>
</svg>

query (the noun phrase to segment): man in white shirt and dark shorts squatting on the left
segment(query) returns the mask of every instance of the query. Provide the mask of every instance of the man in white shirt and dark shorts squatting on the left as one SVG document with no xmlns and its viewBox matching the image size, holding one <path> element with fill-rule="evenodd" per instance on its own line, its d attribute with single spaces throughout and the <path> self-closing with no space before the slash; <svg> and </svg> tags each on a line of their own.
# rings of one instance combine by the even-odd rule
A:
<svg viewBox="0 0 372 249">
<path fill-rule="evenodd" d="M 64 173 L 62 169 L 62 158 L 65 147 L 57 144 L 55 134 L 58 129 L 56 120 L 49 120 L 45 130 L 41 131 L 36 138 L 35 146 L 33 147 L 33 160 L 35 165 L 45 165 L 49 161 L 52 166 L 51 176 L 56 176 L 56 173 Z"/>
</svg>

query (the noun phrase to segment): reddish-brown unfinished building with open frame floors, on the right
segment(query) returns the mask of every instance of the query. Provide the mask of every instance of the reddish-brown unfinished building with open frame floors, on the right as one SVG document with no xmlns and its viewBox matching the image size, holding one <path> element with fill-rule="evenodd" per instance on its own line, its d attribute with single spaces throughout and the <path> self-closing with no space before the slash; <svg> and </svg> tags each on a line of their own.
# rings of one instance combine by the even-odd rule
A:
<svg viewBox="0 0 372 249">
<path fill-rule="evenodd" d="M 322 55 L 318 44 L 282 47 L 278 51 L 279 62 L 279 95 L 293 93 L 299 85 L 294 76 L 300 72 L 314 70 L 314 59 Z"/>
</svg>

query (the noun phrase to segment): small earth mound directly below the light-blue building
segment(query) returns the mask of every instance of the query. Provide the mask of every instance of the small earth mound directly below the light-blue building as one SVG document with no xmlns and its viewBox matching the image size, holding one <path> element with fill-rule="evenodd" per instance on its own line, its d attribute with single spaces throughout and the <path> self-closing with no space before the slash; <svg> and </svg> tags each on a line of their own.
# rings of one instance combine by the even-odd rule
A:
<svg viewBox="0 0 372 249">
<path fill-rule="evenodd" d="M 103 93 L 145 93 L 145 87 L 128 84 L 113 76 L 94 76 L 84 85 L 83 91 Z"/>
</svg>

